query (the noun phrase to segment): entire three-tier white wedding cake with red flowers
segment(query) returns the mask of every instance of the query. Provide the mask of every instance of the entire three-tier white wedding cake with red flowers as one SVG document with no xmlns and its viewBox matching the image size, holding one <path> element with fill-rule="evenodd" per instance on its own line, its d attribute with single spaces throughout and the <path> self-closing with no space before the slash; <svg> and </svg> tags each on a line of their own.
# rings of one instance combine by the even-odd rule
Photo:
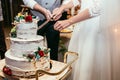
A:
<svg viewBox="0 0 120 80">
<path fill-rule="evenodd" d="M 10 43 L 5 69 L 9 68 L 12 75 L 29 76 L 38 69 L 50 69 L 50 49 L 43 46 L 43 37 L 37 35 L 36 18 L 23 16 L 11 30 Z"/>
</svg>

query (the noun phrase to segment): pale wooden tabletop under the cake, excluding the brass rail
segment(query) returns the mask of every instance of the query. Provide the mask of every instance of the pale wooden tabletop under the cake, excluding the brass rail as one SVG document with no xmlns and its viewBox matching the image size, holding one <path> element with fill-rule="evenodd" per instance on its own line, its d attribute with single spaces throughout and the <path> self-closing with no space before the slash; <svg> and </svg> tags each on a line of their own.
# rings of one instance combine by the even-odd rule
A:
<svg viewBox="0 0 120 80">
<path fill-rule="evenodd" d="M 67 64 L 65 64 L 63 62 L 58 62 L 58 61 L 52 60 L 52 68 L 51 68 L 50 72 L 51 73 L 58 72 L 58 71 L 62 70 L 63 67 L 65 67 L 66 65 Z M 6 77 L 2 72 L 2 68 L 4 66 L 5 66 L 5 59 L 0 60 L 0 76 Z M 69 70 L 69 68 L 64 70 L 61 74 L 55 75 L 55 76 L 44 74 L 39 77 L 39 80 L 59 80 L 61 77 L 63 77 L 64 75 L 67 74 L 68 70 Z M 14 78 L 14 79 L 10 79 L 10 80 L 35 80 L 35 78 L 29 78 L 29 79 L 28 78 Z"/>
</svg>

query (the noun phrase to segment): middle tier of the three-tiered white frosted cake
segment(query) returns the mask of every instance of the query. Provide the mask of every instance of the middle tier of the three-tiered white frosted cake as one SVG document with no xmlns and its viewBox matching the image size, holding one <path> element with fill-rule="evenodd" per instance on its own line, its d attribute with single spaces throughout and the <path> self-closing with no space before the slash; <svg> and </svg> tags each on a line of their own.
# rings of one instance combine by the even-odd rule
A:
<svg viewBox="0 0 120 80">
<path fill-rule="evenodd" d="M 15 57 L 23 57 L 24 54 L 35 52 L 38 47 L 43 47 L 43 37 L 37 36 L 34 39 L 19 39 L 10 38 L 10 51 L 11 55 Z"/>
</svg>

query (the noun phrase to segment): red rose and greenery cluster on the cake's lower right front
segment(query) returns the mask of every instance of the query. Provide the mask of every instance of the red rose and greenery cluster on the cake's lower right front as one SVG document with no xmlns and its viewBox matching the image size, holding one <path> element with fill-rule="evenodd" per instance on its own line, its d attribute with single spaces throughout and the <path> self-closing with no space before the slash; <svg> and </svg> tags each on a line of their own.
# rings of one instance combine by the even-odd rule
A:
<svg viewBox="0 0 120 80">
<path fill-rule="evenodd" d="M 23 54 L 23 57 L 27 58 L 29 62 L 40 60 L 41 57 L 48 58 L 48 53 L 50 52 L 49 48 L 40 48 L 34 53 Z"/>
</svg>

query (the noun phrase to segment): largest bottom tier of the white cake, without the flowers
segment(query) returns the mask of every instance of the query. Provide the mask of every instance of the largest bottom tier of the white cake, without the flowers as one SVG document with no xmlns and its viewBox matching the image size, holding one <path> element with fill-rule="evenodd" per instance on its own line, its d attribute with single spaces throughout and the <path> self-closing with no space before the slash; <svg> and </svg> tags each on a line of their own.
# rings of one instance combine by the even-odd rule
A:
<svg viewBox="0 0 120 80">
<path fill-rule="evenodd" d="M 41 57 L 39 61 L 29 62 L 26 58 L 17 58 L 11 55 L 10 50 L 5 53 L 5 63 L 12 70 L 12 75 L 30 76 L 35 75 L 36 70 L 50 70 L 50 60 Z"/>
</svg>

